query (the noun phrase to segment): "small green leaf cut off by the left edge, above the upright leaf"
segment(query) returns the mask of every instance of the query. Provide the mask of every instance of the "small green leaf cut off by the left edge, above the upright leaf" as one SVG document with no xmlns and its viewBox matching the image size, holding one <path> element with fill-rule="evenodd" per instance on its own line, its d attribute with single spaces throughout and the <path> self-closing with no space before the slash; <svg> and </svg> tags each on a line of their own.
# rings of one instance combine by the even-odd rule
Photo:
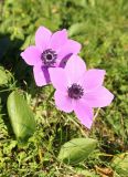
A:
<svg viewBox="0 0 128 177">
<path fill-rule="evenodd" d="M 6 70 L 0 66 L 0 86 L 8 84 L 8 74 Z"/>
</svg>

